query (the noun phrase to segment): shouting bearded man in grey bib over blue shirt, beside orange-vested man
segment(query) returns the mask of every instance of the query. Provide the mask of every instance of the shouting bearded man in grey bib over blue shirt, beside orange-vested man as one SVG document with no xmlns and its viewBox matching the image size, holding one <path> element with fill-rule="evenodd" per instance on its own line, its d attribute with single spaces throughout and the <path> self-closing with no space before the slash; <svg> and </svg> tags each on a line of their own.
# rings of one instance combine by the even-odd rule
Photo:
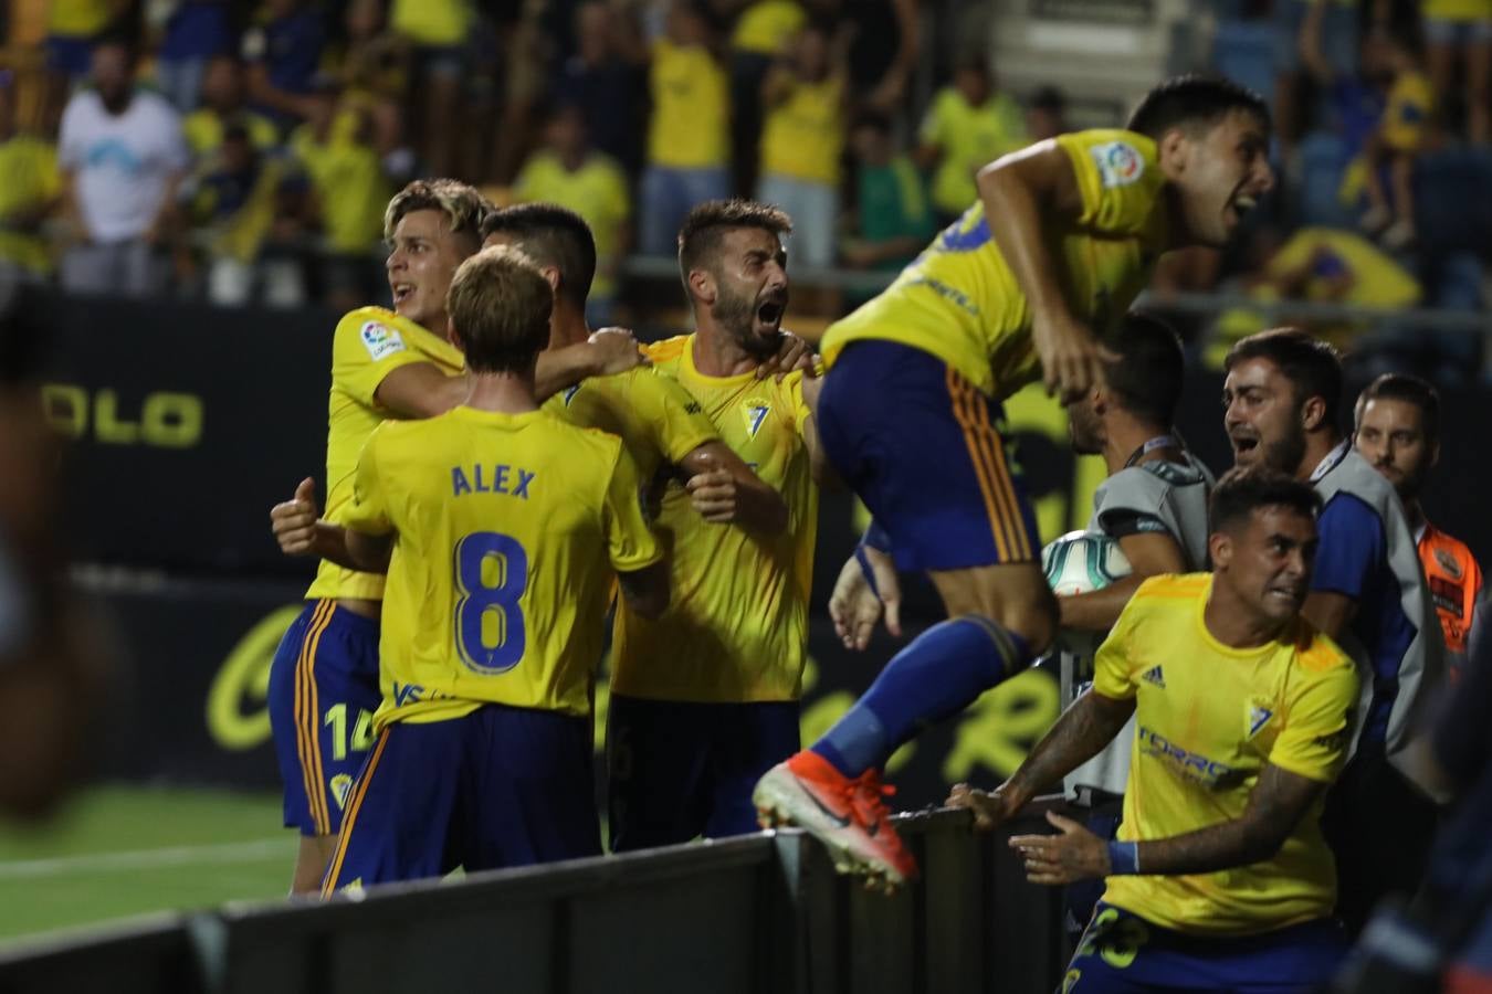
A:
<svg viewBox="0 0 1492 994">
<path fill-rule="evenodd" d="M 1441 788 L 1411 742 L 1444 681 L 1444 644 L 1414 536 L 1394 487 L 1343 437 L 1341 364 L 1329 344 L 1277 328 L 1225 362 L 1223 426 L 1240 466 L 1268 465 L 1320 493 L 1320 551 L 1304 614 L 1358 663 L 1352 762 L 1326 805 L 1341 879 L 1338 914 L 1358 930 L 1379 897 L 1419 887 Z"/>
</svg>

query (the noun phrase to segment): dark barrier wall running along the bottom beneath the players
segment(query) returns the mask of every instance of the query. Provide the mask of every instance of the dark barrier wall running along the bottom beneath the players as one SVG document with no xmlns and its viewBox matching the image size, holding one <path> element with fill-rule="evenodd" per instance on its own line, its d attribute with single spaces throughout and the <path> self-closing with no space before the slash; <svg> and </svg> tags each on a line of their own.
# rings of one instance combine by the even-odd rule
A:
<svg viewBox="0 0 1492 994">
<path fill-rule="evenodd" d="M 898 820 L 924 876 L 894 897 L 779 832 L 598 860 L 228 905 L 0 955 L 0 991 L 161 994 L 880 994 L 1052 991 L 1061 890 L 962 812 Z"/>
</svg>

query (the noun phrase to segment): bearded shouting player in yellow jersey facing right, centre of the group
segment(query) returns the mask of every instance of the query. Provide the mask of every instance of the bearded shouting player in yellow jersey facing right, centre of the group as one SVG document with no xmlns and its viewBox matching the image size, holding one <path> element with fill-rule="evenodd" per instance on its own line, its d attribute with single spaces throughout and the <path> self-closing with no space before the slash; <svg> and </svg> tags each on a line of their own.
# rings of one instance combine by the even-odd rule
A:
<svg viewBox="0 0 1492 994">
<path fill-rule="evenodd" d="M 752 787 L 798 750 L 818 531 L 818 435 L 804 371 L 756 376 L 779 349 L 788 304 L 779 209 L 695 207 L 679 270 L 695 332 L 648 346 L 721 437 L 780 493 L 776 528 L 721 526 L 691 511 L 703 487 L 671 484 L 658 534 L 677 596 L 658 620 L 625 605 L 612 636 L 607 796 L 612 848 L 642 849 L 756 829 Z M 712 498 L 716 499 L 716 498 Z"/>
</svg>

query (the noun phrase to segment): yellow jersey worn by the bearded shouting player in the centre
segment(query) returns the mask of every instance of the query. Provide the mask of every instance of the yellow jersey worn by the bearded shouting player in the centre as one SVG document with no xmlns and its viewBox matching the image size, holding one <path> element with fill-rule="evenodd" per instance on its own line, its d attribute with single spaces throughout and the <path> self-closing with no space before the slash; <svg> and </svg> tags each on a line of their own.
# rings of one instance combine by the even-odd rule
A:
<svg viewBox="0 0 1492 994">
<path fill-rule="evenodd" d="M 803 426 L 803 374 L 777 383 L 694 365 L 694 335 L 648 347 L 653 367 L 704 405 L 730 446 L 788 504 L 782 535 L 712 525 L 670 483 L 656 528 L 668 550 L 673 602 L 656 621 L 616 611 L 612 690 L 653 700 L 797 700 L 807 659 L 819 492 Z"/>
</svg>

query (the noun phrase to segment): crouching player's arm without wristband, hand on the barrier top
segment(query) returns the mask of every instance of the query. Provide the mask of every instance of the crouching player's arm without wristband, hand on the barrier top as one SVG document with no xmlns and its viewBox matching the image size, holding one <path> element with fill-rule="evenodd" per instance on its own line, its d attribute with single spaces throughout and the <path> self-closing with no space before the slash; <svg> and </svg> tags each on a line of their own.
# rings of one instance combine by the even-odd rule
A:
<svg viewBox="0 0 1492 994">
<path fill-rule="evenodd" d="M 1089 690 L 1062 712 L 1021 767 L 994 791 L 974 790 L 956 784 L 947 797 L 950 808 L 974 812 L 976 829 L 994 829 L 1021 811 L 1043 788 L 1053 787 L 1064 776 L 1098 756 L 1125 721 L 1134 714 L 1134 699 L 1106 697 Z"/>
</svg>

